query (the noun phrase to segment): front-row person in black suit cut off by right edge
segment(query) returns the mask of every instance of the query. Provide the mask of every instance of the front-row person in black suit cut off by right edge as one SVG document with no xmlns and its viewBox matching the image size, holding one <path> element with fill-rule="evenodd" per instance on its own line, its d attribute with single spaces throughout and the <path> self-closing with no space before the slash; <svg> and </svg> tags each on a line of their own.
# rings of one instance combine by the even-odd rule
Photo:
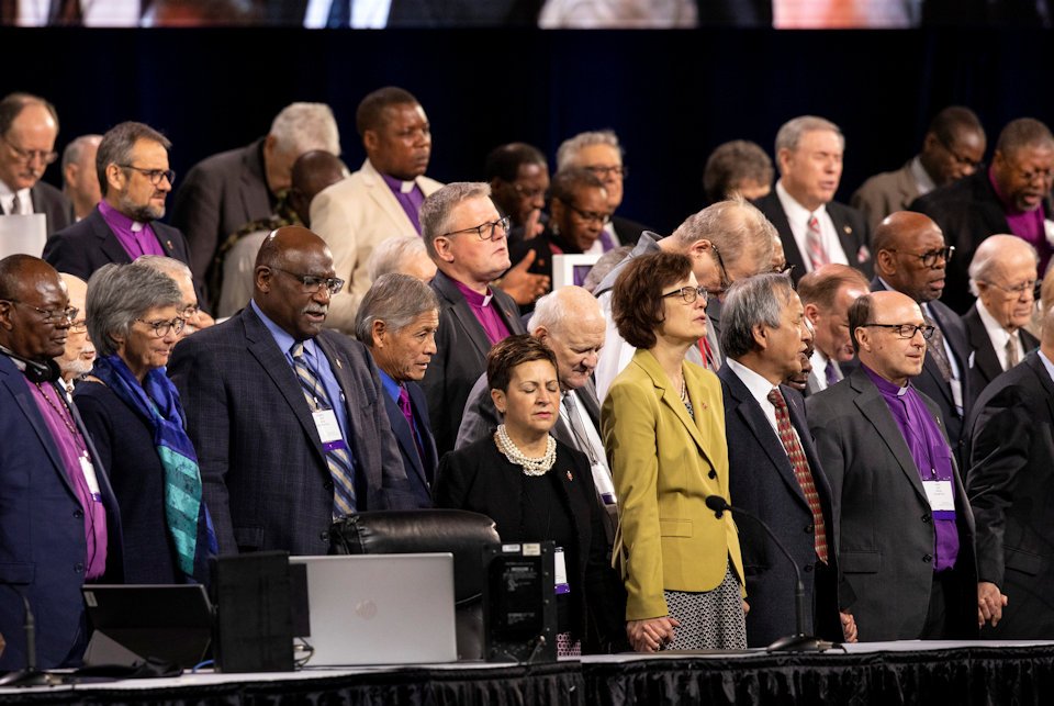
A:
<svg viewBox="0 0 1054 706">
<path fill-rule="evenodd" d="M 977 603 L 999 640 L 1054 638 L 1054 309 L 1043 341 L 997 377 L 971 419 Z M 1005 595 L 1003 595 L 1005 594 Z"/>
</svg>

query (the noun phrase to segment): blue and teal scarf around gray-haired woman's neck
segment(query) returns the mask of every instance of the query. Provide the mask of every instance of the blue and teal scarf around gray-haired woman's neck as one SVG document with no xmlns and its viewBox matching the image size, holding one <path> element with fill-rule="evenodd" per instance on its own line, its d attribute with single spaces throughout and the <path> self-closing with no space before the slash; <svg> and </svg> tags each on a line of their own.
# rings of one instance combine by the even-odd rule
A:
<svg viewBox="0 0 1054 706">
<path fill-rule="evenodd" d="M 194 580 L 198 556 L 198 523 L 203 520 L 208 551 L 218 553 L 209 511 L 201 502 L 201 472 L 198 455 L 184 430 L 186 419 L 176 385 L 165 368 L 146 373 L 143 384 L 119 356 L 96 359 L 91 374 L 99 378 L 122 402 L 139 413 L 154 428 L 154 446 L 165 470 L 165 524 L 176 548 L 179 570 Z"/>
</svg>

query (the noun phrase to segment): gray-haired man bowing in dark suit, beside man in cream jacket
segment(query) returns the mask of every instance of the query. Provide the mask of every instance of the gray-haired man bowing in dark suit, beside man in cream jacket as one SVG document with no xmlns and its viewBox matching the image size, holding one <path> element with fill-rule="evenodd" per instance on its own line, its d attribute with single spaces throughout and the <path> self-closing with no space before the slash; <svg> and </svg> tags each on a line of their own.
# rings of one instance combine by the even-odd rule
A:
<svg viewBox="0 0 1054 706">
<path fill-rule="evenodd" d="M 197 279 L 209 281 L 216 250 L 233 233 L 276 213 L 290 188 L 293 163 L 312 149 L 340 154 L 333 111 L 325 103 L 292 103 L 274 117 L 267 136 L 191 167 L 176 191 L 172 225 L 187 236 Z"/>
</svg>

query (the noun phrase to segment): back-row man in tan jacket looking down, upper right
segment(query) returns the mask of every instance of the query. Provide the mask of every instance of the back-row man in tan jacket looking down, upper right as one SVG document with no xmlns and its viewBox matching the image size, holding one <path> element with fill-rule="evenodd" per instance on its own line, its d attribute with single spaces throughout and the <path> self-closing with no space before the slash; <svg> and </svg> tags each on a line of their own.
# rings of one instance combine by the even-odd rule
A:
<svg viewBox="0 0 1054 706">
<path fill-rule="evenodd" d="M 974 173 L 985 157 L 985 128 L 974 111 L 949 105 L 930 122 L 922 152 L 896 171 L 875 175 L 853 193 L 850 203 L 860 209 L 872 229 L 894 211 L 938 187 Z"/>
</svg>

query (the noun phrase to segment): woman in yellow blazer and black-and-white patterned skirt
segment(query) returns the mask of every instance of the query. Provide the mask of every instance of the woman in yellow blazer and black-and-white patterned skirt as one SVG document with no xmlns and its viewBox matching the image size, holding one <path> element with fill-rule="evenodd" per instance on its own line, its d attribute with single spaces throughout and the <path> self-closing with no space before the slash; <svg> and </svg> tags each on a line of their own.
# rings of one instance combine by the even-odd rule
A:
<svg viewBox="0 0 1054 706">
<path fill-rule="evenodd" d="M 747 647 L 736 525 L 708 495 L 728 495 L 721 386 L 684 359 L 706 335 L 706 290 L 688 258 L 635 258 L 615 283 L 618 333 L 637 347 L 604 400 L 601 426 L 626 583 L 626 632 L 637 651 Z"/>
</svg>

